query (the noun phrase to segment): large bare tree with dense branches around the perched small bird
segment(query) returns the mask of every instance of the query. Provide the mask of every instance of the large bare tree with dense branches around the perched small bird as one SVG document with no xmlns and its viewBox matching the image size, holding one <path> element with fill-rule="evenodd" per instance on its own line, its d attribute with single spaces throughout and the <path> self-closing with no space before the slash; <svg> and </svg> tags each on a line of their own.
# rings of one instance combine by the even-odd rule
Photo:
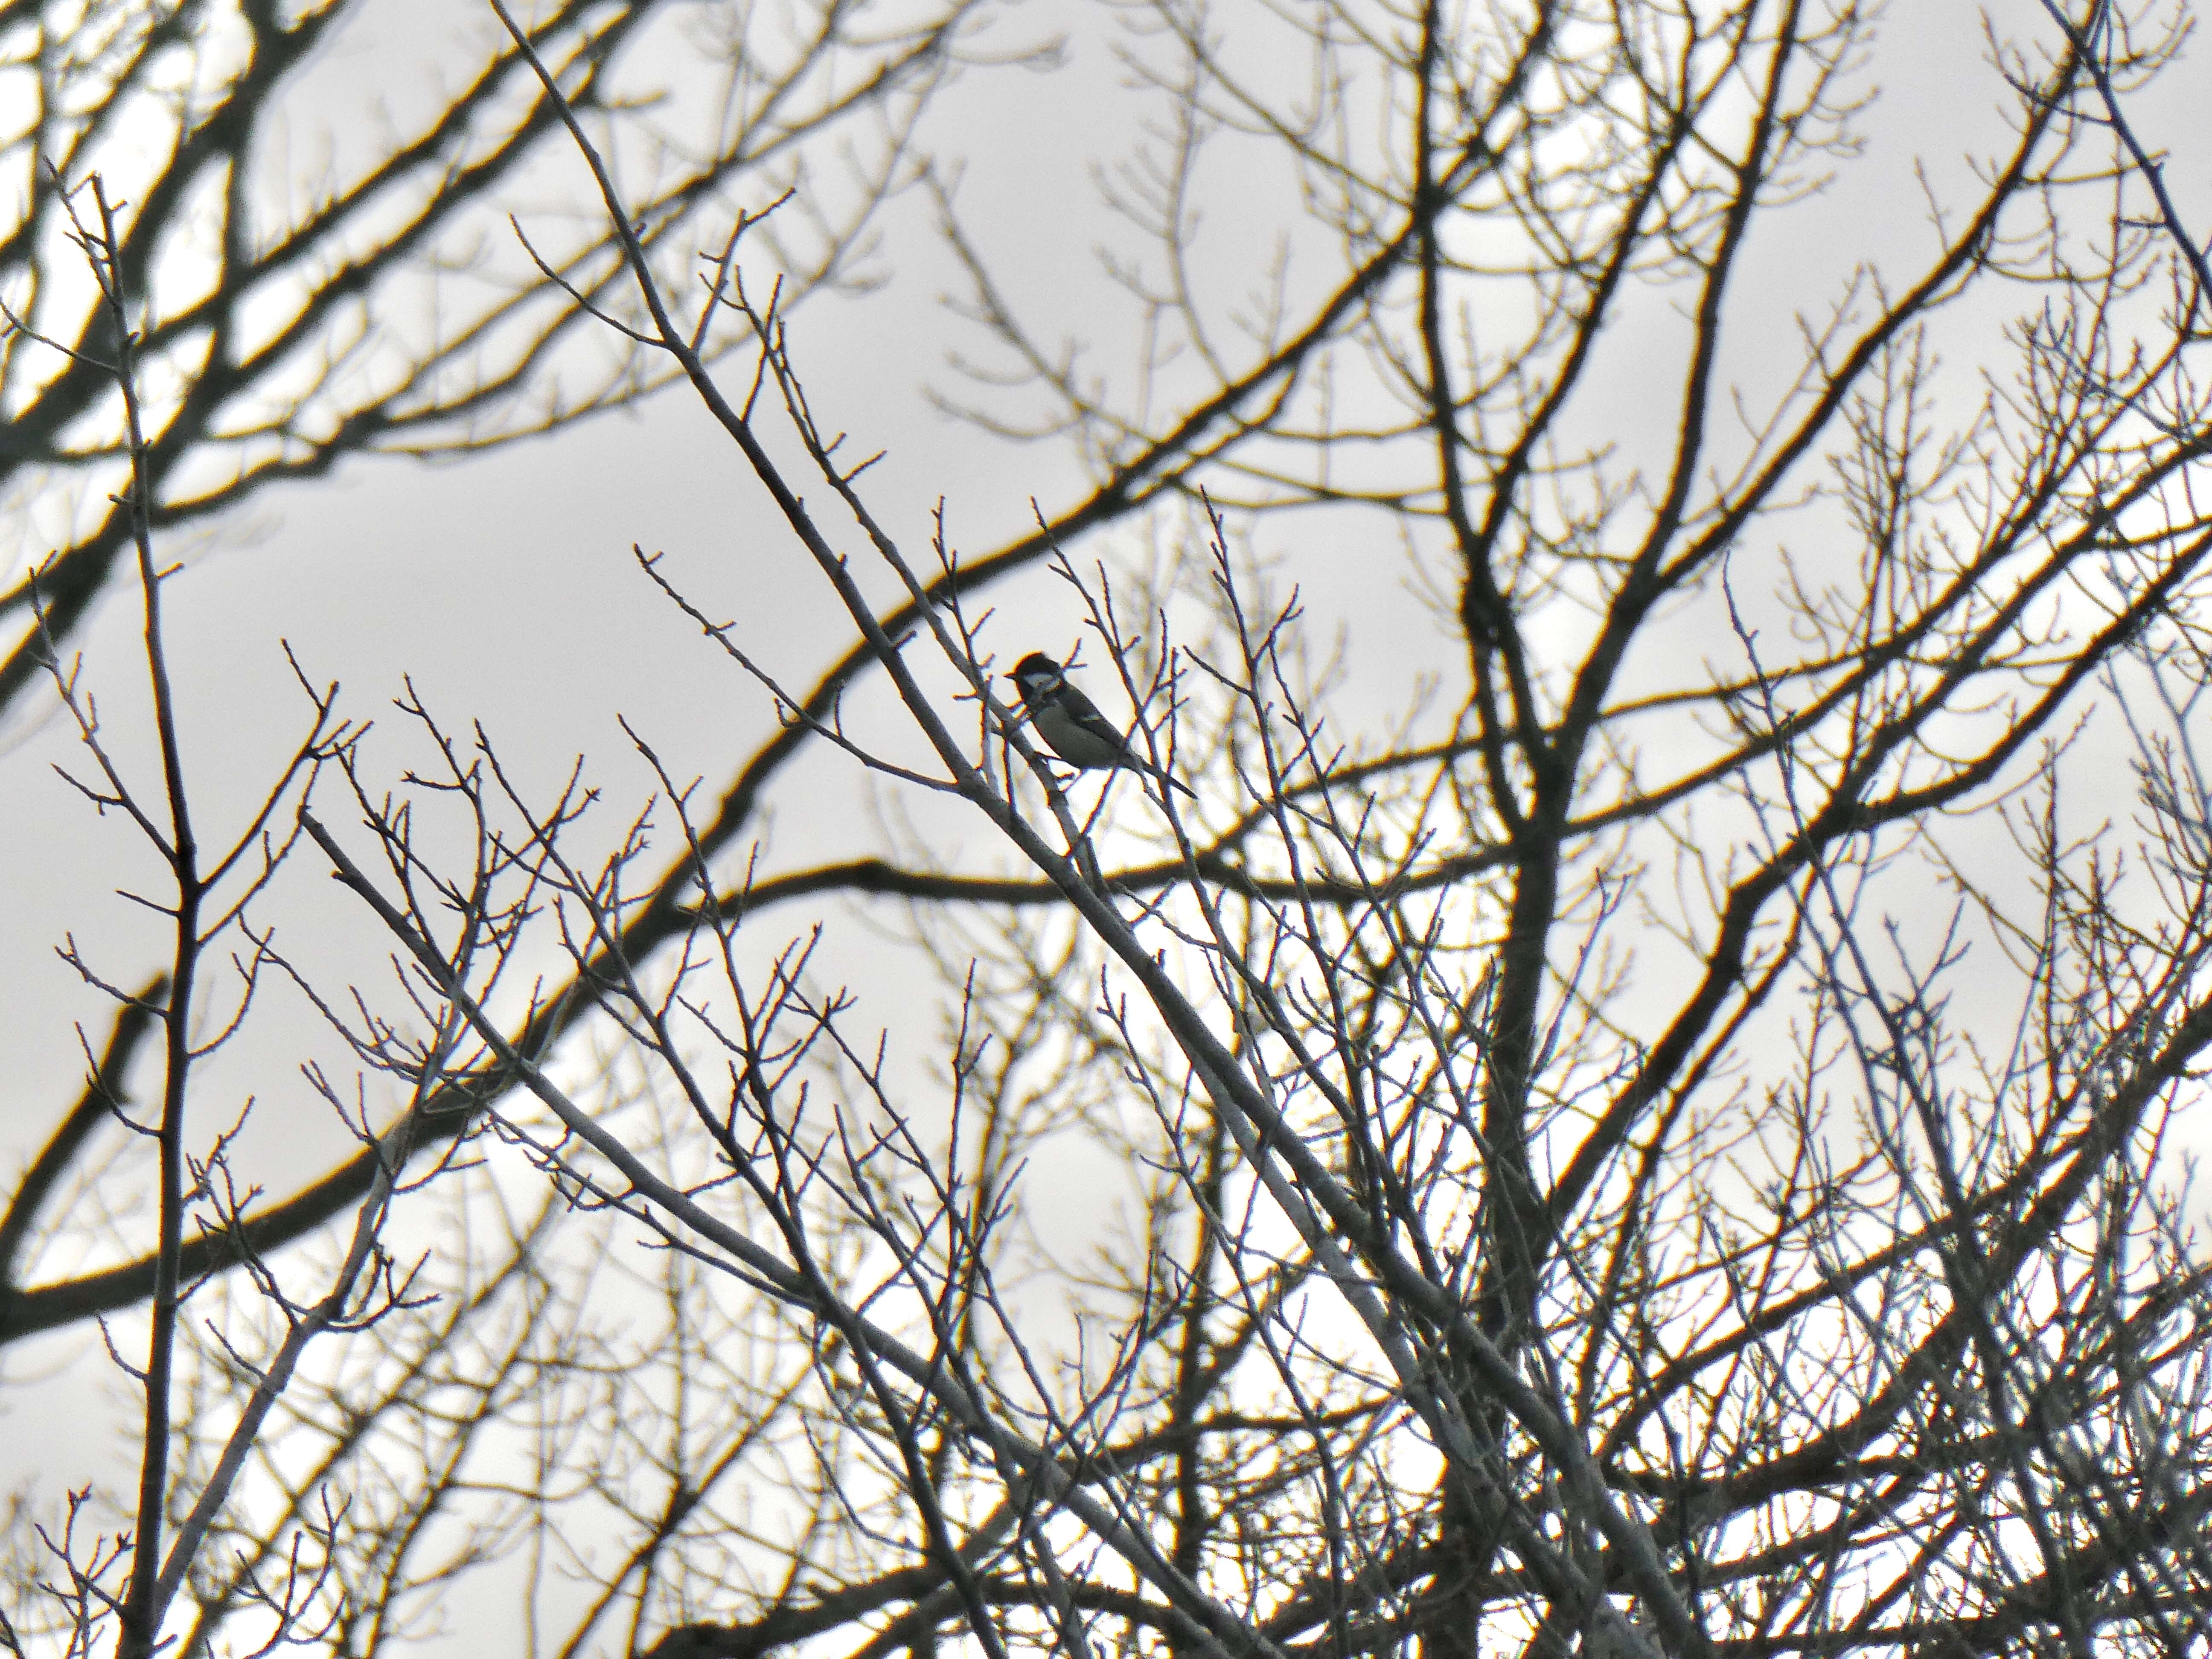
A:
<svg viewBox="0 0 2212 1659">
<path fill-rule="evenodd" d="M 661 772 L 604 856 L 582 772 L 540 799 L 420 703 L 400 783 L 316 750 L 299 856 L 398 973 L 316 993 L 403 1084 L 392 1121 L 440 1115 L 422 1152 L 480 1152 L 442 1214 L 498 1221 L 465 1285 L 365 1332 L 374 1398 L 288 1394 L 321 1451 L 265 1438 L 232 1522 L 283 1590 L 210 1566 L 195 1644 L 274 1617 L 367 1650 L 520 1559 L 531 1646 L 562 1652 L 2201 1646 L 2177 1139 L 2212 1042 L 2205 265 L 2126 124 L 2188 18 L 1993 35 L 2008 148 L 1971 197 L 1931 181 L 1913 268 L 1792 296 L 1776 374 L 1743 272 L 1854 159 L 1863 9 L 1237 13 L 1303 35 L 1298 97 L 1221 13 L 1139 15 L 1172 119 L 1121 175 L 1155 234 L 1124 403 L 1026 330 L 945 197 L 975 316 L 1048 400 L 1029 425 L 1097 467 L 980 560 L 872 511 L 750 221 L 664 281 L 568 117 L 624 325 L 854 646 L 787 688 L 641 553 L 785 728 L 714 803 Z M 1239 345 L 1190 274 L 1221 135 L 1279 146 L 1343 248 Z M 1608 376 L 1659 316 L 1655 442 Z M 757 354 L 737 392 L 717 319 Z M 1077 564 L 1148 504 L 1181 566 Z M 1314 619 L 1248 553 L 1290 509 L 1402 540 L 1464 657 L 1451 719 L 1338 734 Z M 1029 641 L 982 595 L 1046 562 L 1194 807 L 1066 779 L 1000 690 Z M 907 728 L 847 712 L 863 675 Z M 754 867 L 803 748 L 1002 863 Z M 949 987 L 920 1060 L 836 987 L 827 925 L 765 938 L 821 894 L 902 902 Z M 546 949 L 566 973 L 524 984 Z M 1079 1261 L 1026 1197 L 1071 1139 L 1124 1170 Z M 296 1234 L 223 1217 L 192 1261 Z M 588 1312 L 611 1276 L 650 1343 Z M 144 1292 L 73 1294 L 42 1323 Z M 352 1517 L 363 1429 L 420 1480 Z M 97 1615 L 95 1577 L 53 1582 L 53 1628 Z"/>
</svg>

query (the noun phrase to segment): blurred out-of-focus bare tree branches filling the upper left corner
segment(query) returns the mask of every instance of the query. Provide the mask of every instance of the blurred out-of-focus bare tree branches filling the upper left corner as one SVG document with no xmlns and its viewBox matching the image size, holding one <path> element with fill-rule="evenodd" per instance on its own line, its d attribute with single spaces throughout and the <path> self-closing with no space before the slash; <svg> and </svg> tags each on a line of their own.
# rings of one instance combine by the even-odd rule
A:
<svg viewBox="0 0 2212 1659">
<path fill-rule="evenodd" d="M 15 624 L 0 706 L 40 684 L 31 571 L 44 630 L 66 644 L 128 564 L 131 522 L 111 502 L 128 471 L 113 349 L 66 210 L 95 170 L 128 201 L 117 276 L 142 334 L 155 531 L 354 456 L 462 453 L 655 385 L 591 314 L 619 281 L 606 230 L 546 223 L 535 248 L 507 232 L 557 117 L 487 18 L 451 20 L 453 51 L 473 44 L 473 62 L 372 42 L 400 75 L 453 88 L 411 124 L 367 97 L 361 126 L 389 131 L 327 117 L 321 60 L 334 42 L 363 51 L 376 13 L 358 0 L 0 7 L 15 181 L 0 299 L 75 347 L 58 356 L 15 332 L 0 354 L 0 480 L 38 549 L 15 555 L 0 593 Z M 914 122 L 980 13 L 956 0 L 894 27 L 825 4 L 748 27 L 739 9 L 626 0 L 542 4 L 531 24 L 571 106 L 633 168 L 646 246 L 684 261 L 732 204 L 792 190 L 776 252 L 796 296 L 867 274 L 854 261 L 869 219 L 911 173 Z M 825 166 L 834 142 L 841 164 Z"/>
</svg>

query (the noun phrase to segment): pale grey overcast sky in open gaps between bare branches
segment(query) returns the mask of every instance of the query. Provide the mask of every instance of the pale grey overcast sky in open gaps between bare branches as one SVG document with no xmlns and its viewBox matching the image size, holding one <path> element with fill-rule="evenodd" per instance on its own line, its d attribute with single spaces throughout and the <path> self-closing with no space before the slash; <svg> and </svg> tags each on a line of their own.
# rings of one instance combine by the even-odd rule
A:
<svg viewBox="0 0 2212 1659">
<path fill-rule="evenodd" d="M 389 35 L 338 42 L 316 75 L 394 93 L 405 106 L 422 71 L 394 73 L 394 62 L 436 60 L 453 11 L 429 0 L 392 4 L 378 18 Z M 2033 0 L 2004 0 L 1993 11 L 2011 20 L 2039 15 Z M 1902 259 L 1927 246 L 1913 161 L 1924 161 L 1938 184 L 1955 181 L 1960 155 L 1993 142 L 1993 111 L 2004 97 L 1982 62 L 1975 18 L 1973 7 L 1951 0 L 1891 7 L 1874 64 L 1885 97 L 1865 122 L 1865 161 L 1754 243 L 1750 276 L 1770 290 L 1776 325 L 1798 305 L 1818 305 L 1854 261 Z M 962 159 L 960 206 L 1006 292 L 1040 332 L 1088 338 L 1110 365 L 1133 338 L 1133 323 L 1099 276 L 1095 250 L 1121 228 L 1099 210 L 1091 170 L 1135 137 L 1135 104 L 1110 55 L 1115 27 L 1102 9 L 1075 0 L 1024 0 L 1000 31 L 1009 42 L 1064 31 L 1068 64 L 1051 75 L 973 71 L 931 117 L 929 142 Z M 2199 53 L 2135 115 L 2152 142 L 2179 157 L 2172 186 L 2194 206 L 2197 223 L 2212 228 L 2201 142 L 2208 108 L 2212 80 Z M 1221 199 L 1208 204 L 1201 274 L 1223 294 L 1256 285 L 1272 257 L 1270 221 L 1292 206 L 1267 192 L 1265 175 L 1254 177 L 1243 188 L 1223 181 Z M 920 192 L 885 217 L 878 263 L 894 276 L 889 288 L 814 301 L 792 325 L 814 407 L 832 429 L 849 429 L 858 447 L 887 449 L 867 476 L 867 493 L 914 553 L 927 546 L 938 498 L 956 540 L 989 551 L 1031 522 L 1031 498 L 1046 513 L 1075 500 L 1079 471 L 1051 445 L 993 440 L 929 407 L 929 383 L 958 389 L 945 361 L 953 349 L 975 349 L 975 334 L 938 305 L 956 274 L 933 246 Z M 1648 325 L 1655 356 L 1663 356 L 1663 305 L 1652 307 Z M 1672 429 L 1670 409 L 1639 407 L 1637 354 L 1637 341 L 1624 341 L 1617 361 L 1615 414 L 1628 442 L 1639 431 Z M 1750 361 L 1745 376 L 1756 380 Z M 1113 562 L 1126 535 L 1073 551 Z M 1455 686 L 1462 650 L 1405 591 L 1396 546 L 1363 535 L 1376 535 L 1376 526 L 1314 513 L 1272 522 L 1261 544 L 1281 560 L 1285 586 L 1303 584 L 1307 613 L 1327 628 L 1343 626 L 1338 719 L 1380 726 L 1407 706 L 1420 675 L 1444 675 Z M 303 701 L 281 641 L 310 675 L 343 681 L 347 714 L 378 721 L 374 752 L 389 757 L 392 772 L 407 739 L 389 699 L 411 677 L 453 728 L 482 721 L 502 754 L 542 785 L 586 754 L 588 774 L 608 792 L 606 834 L 648 790 L 617 714 L 655 743 L 677 776 L 703 776 L 706 792 L 719 794 L 728 770 L 772 730 L 772 712 L 646 582 L 633 542 L 666 551 L 670 573 L 701 608 L 739 619 L 748 648 L 794 686 L 810 686 L 847 639 L 834 597 L 763 511 L 741 458 L 681 392 L 467 465 L 356 462 L 330 480 L 263 493 L 204 549 L 173 549 L 192 560 L 168 588 L 168 648 L 204 838 L 219 838 L 234 821 L 237 790 L 263 779 L 301 726 Z M 1031 644 L 1057 653 L 1079 626 L 1071 597 L 1042 568 L 993 591 L 989 602 L 1000 608 L 995 641 L 1009 661 Z M 117 588 L 77 648 L 117 754 L 150 781 L 137 626 L 135 597 Z M 1104 684 L 1104 670 L 1095 670 L 1093 688 Z M 856 699 L 856 712 L 894 719 L 869 697 Z M 153 918 L 113 896 L 119 885 L 153 880 L 135 832 L 115 814 L 93 816 L 53 774 L 58 763 L 82 761 L 51 699 L 13 714 L 0 743 L 0 856 L 9 872 L 0 880 L 0 1073 L 9 1099 L 0 1168 L 15 1168 L 75 1095 L 73 1022 L 86 1022 L 97 1044 L 108 1020 L 106 1004 L 55 960 L 53 947 L 73 933 L 122 982 L 142 980 L 161 949 Z M 818 752 L 794 768 L 774 792 L 763 869 L 876 849 L 860 810 L 867 799 L 856 770 L 836 754 Z M 962 841 L 980 832 L 936 803 L 909 805 L 927 834 L 942 836 L 947 863 L 958 863 Z M 998 860 L 980 838 L 975 854 L 971 863 Z M 316 860 L 301 860 L 276 898 L 268 918 L 285 938 L 312 940 L 319 960 L 383 956 L 356 905 L 321 876 Z M 770 931 L 781 936 L 801 920 L 799 911 L 774 916 Z M 834 960 L 865 1006 L 880 1011 L 894 1040 L 927 1042 L 936 1026 L 905 995 L 911 964 L 885 953 L 874 933 L 838 925 Z M 902 1031 L 900 1020 L 916 1013 L 922 1018 Z M 334 1057 L 334 1044 L 296 998 L 279 991 L 248 1040 L 201 1084 L 206 1106 L 197 1110 L 208 1121 L 232 1115 L 248 1095 L 259 1099 L 241 1161 L 272 1190 L 345 1150 L 296 1077 L 299 1057 L 310 1053 Z M 1062 1181 L 1064 1206 L 1099 1190 L 1084 1170 L 1040 1170 L 1035 1179 Z M 66 1265 L 58 1259 L 51 1270 Z M 97 1385 L 106 1369 L 97 1347 L 97 1332 L 80 1329 L 7 1354 L 0 1489 L 35 1475 L 51 1498 L 113 1471 L 106 1436 L 117 1418 L 113 1391 Z M 46 1383 L 35 1385 L 40 1378 Z"/>
</svg>

